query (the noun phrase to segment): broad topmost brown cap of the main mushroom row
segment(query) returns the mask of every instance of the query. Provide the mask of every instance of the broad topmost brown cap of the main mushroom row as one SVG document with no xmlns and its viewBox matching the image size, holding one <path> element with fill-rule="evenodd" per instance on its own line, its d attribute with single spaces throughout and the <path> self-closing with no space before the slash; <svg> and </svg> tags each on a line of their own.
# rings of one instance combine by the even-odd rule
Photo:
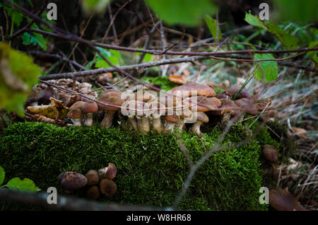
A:
<svg viewBox="0 0 318 225">
<path fill-rule="evenodd" d="M 185 83 L 182 86 L 177 86 L 170 90 L 171 93 L 176 93 L 177 91 L 180 91 L 180 93 L 182 93 L 182 96 L 187 96 L 187 97 L 192 96 L 191 91 L 196 91 L 197 96 L 208 96 L 208 97 L 216 96 L 216 92 L 213 90 L 213 88 L 206 86 L 204 84 L 196 83 L 194 81 Z M 183 91 L 189 91 L 189 95 L 187 95 L 187 93 L 183 93 Z"/>
</svg>

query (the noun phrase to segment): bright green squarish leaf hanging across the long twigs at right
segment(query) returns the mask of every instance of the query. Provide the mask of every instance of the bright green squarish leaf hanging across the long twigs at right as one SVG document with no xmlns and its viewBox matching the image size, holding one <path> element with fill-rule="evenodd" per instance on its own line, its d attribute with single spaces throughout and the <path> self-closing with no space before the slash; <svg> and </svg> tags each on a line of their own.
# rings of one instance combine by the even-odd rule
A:
<svg viewBox="0 0 318 225">
<path fill-rule="evenodd" d="M 255 54 L 255 60 L 261 59 L 275 59 L 272 54 Z M 278 64 L 275 61 L 265 61 L 259 62 L 259 69 L 255 74 L 255 77 L 260 81 L 265 81 L 265 83 L 269 83 L 277 79 L 278 77 Z"/>
</svg>

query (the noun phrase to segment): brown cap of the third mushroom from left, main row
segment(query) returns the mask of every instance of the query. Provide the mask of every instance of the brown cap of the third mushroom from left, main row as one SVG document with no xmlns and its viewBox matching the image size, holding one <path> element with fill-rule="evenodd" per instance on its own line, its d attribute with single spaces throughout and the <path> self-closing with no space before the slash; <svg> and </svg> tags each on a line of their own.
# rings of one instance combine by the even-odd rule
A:
<svg viewBox="0 0 318 225">
<path fill-rule="evenodd" d="M 124 99 L 122 99 L 122 92 L 117 90 L 105 91 L 98 100 L 100 102 L 110 104 L 110 105 L 98 104 L 100 110 L 107 110 L 107 111 L 118 111 L 122 103 L 124 103 L 125 101 Z"/>
</svg>

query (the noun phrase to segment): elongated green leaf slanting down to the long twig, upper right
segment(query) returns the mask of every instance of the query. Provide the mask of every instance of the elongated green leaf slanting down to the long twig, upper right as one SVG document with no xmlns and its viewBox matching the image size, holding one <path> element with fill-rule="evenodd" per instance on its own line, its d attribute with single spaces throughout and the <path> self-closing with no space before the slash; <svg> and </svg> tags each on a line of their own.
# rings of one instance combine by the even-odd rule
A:
<svg viewBox="0 0 318 225">
<path fill-rule="evenodd" d="M 278 40 L 288 49 L 295 49 L 298 46 L 298 39 L 294 35 L 288 34 L 283 28 L 280 28 L 275 23 L 266 23 L 269 32 L 278 37 Z"/>
</svg>

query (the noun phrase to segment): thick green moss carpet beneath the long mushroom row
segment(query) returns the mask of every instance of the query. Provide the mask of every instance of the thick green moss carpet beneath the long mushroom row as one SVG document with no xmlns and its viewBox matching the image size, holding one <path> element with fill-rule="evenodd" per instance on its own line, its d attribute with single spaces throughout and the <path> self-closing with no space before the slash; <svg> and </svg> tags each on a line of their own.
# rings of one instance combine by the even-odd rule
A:
<svg viewBox="0 0 318 225">
<path fill-rule="evenodd" d="M 59 173 L 85 174 L 112 162 L 118 168 L 114 179 L 118 192 L 100 201 L 169 207 L 189 173 L 178 138 L 196 162 L 213 147 L 220 134 L 218 127 L 204 133 L 202 144 L 199 137 L 189 132 L 142 135 L 117 127 L 56 127 L 19 122 L 0 134 L 0 165 L 6 171 L 6 179 L 30 178 L 42 190 L 53 186 L 61 192 Z M 222 144 L 240 142 L 247 135 L 243 125 L 235 125 Z M 252 139 L 240 148 L 225 148 L 213 154 L 196 171 L 180 209 L 266 210 L 266 204 L 259 204 L 259 188 L 263 186 L 261 142 L 264 141 Z M 77 196 L 83 197 L 83 191 Z M 11 204 L 0 203 L 1 207 L 12 209 Z"/>
</svg>

